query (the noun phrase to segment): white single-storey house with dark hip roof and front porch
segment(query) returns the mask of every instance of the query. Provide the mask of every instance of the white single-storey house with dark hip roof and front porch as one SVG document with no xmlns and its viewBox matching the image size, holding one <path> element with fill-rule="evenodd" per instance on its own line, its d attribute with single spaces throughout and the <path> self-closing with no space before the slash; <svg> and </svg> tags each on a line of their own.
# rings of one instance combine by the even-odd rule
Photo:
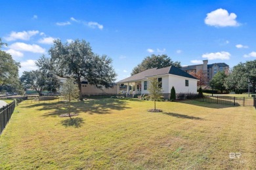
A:
<svg viewBox="0 0 256 170">
<path fill-rule="evenodd" d="M 129 86 L 132 86 L 132 90 L 137 94 L 148 93 L 148 78 L 150 77 L 156 77 L 158 81 L 161 82 L 165 98 L 169 98 L 173 86 L 176 93 L 197 93 L 198 79 L 175 66 L 161 69 L 147 69 L 136 75 L 120 80 L 117 82 L 117 93 L 119 93 L 120 89 L 125 85 L 127 86 L 125 89 L 127 92 L 130 92 Z"/>
</svg>

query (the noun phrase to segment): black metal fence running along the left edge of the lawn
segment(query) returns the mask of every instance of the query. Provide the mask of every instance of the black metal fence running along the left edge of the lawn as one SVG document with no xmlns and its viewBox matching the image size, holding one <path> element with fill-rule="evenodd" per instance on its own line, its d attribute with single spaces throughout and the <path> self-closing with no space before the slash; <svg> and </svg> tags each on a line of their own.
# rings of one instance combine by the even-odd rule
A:
<svg viewBox="0 0 256 170">
<path fill-rule="evenodd" d="M 9 103 L 8 105 L 0 108 L 0 134 L 2 133 L 3 129 L 5 129 L 5 126 L 9 122 L 12 113 L 15 109 L 15 101 L 12 101 L 12 103 Z"/>
</svg>

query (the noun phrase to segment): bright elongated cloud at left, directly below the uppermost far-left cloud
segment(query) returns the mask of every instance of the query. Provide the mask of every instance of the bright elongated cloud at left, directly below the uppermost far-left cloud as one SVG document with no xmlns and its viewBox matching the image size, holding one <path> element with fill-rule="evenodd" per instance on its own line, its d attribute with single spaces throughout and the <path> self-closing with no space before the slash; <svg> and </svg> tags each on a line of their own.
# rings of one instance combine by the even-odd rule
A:
<svg viewBox="0 0 256 170">
<path fill-rule="evenodd" d="M 45 48 L 41 48 L 41 46 L 37 44 L 26 44 L 24 42 L 15 42 L 9 46 L 12 50 L 25 51 L 25 52 L 33 52 L 33 53 L 45 53 Z"/>
</svg>

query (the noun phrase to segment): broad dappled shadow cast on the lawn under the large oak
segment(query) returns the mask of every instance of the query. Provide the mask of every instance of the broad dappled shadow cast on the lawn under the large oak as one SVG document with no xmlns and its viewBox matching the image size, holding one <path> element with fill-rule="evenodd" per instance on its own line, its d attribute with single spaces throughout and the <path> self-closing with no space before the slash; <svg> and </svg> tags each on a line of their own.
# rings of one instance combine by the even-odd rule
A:
<svg viewBox="0 0 256 170">
<path fill-rule="evenodd" d="M 35 108 L 35 110 L 44 110 L 43 116 L 59 116 L 60 114 L 68 113 L 68 102 L 56 103 L 37 103 L 34 105 L 23 105 L 24 108 Z M 74 101 L 71 103 L 72 113 L 89 114 L 111 114 L 113 110 L 125 110 L 127 101 L 124 99 L 95 99 L 88 101 Z"/>
</svg>

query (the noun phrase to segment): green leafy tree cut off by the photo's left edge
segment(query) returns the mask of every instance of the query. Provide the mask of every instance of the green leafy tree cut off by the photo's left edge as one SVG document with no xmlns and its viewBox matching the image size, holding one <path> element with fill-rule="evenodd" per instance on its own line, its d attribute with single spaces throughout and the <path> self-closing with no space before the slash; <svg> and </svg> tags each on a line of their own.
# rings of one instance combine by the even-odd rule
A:
<svg viewBox="0 0 256 170">
<path fill-rule="evenodd" d="M 3 43 L 0 39 L 0 48 Z M 18 79 L 18 69 L 20 68 L 20 63 L 12 59 L 11 54 L 0 50 L 0 90 L 7 90 L 8 92 L 19 91 L 20 92 L 20 80 Z"/>
</svg>

